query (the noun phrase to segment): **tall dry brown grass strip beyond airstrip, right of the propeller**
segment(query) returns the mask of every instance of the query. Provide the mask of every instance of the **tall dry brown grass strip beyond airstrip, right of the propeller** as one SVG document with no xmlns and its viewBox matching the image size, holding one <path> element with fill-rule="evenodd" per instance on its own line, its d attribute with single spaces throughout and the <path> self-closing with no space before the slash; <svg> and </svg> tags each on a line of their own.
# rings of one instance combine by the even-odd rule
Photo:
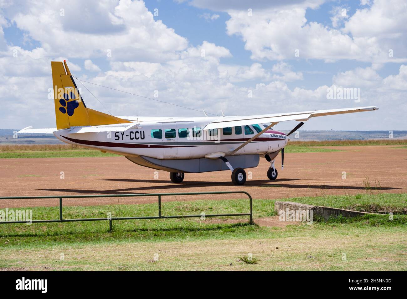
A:
<svg viewBox="0 0 407 299">
<path fill-rule="evenodd" d="M 339 146 L 339 145 L 407 145 L 407 139 L 377 139 L 377 140 L 326 140 L 326 141 L 299 141 L 288 143 L 297 146 Z"/>
</svg>

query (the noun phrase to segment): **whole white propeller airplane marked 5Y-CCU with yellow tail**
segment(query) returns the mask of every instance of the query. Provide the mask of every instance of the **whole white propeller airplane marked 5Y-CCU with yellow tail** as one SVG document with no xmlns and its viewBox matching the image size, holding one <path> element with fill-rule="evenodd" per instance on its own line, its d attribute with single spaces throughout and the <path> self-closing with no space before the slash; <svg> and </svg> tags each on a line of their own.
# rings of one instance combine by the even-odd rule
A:
<svg viewBox="0 0 407 299">
<path fill-rule="evenodd" d="M 174 183 L 185 173 L 228 170 L 234 185 L 246 181 L 244 169 L 270 162 L 275 180 L 276 156 L 289 136 L 313 117 L 378 110 L 375 106 L 303 112 L 217 117 L 116 117 L 86 107 L 66 61 L 51 62 L 57 128 L 27 127 L 18 133 L 54 134 L 59 140 L 103 153 L 125 156 L 145 167 L 170 173 Z M 205 113 L 206 114 L 206 113 Z M 300 121 L 288 134 L 271 130 L 283 121 Z"/>
</svg>

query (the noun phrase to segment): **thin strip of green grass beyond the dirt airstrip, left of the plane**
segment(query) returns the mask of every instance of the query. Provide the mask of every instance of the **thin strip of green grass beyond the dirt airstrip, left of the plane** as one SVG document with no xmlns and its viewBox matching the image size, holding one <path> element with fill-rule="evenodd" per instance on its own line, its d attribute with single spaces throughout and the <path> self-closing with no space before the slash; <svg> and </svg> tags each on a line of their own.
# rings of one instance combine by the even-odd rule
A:
<svg viewBox="0 0 407 299">
<path fill-rule="evenodd" d="M 81 158 L 117 156 L 102 153 L 98 150 L 59 150 L 59 151 L 29 151 L 29 152 L 0 152 L 0 158 Z"/>
</svg>

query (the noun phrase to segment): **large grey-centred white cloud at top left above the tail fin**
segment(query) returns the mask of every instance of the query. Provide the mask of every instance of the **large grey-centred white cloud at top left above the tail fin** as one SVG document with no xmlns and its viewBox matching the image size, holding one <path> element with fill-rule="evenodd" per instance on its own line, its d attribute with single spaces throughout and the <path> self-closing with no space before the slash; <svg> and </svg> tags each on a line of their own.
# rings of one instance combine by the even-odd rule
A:
<svg viewBox="0 0 407 299">
<path fill-rule="evenodd" d="M 60 55 L 63 49 L 71 58 L 164 61 L 176 59 L 177 51 L 188 46 L 184 37 L 155 21 L 142 1 L 120 0 L 118 5 L 71 1 L 68 6 L 47 0 L 41 5 L 30 1 L 19 5 L 21 9 L 4 8 L 4 14 L 39 41 L 50 56 Z M 60 9 L 64 9 L 63 16 Z"/>
</svg>

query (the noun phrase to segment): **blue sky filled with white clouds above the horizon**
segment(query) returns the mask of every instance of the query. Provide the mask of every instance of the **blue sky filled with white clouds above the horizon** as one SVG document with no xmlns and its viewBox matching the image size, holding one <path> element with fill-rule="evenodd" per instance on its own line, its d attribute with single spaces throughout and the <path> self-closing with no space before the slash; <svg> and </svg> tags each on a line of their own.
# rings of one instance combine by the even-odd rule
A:
<svg viewBox="0 0 407 299">
<path fill-rule="evenodd" d="M 77 81 L 113 115 L 378 106 L 302 129 L 407 130 L 406 21 L 405 0 L 1 0 L 0 128 L 55 127 L 50 62 L 66 59 L 78 79 L 199 110 Z"/>
</svg>

